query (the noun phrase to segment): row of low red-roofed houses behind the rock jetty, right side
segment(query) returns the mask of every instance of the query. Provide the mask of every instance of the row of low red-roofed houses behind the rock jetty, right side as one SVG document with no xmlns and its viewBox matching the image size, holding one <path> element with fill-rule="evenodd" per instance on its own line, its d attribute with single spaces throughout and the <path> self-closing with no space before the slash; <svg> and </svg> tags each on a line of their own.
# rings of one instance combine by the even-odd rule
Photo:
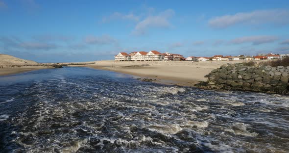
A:
<svg viewBox="0 0 289 153">
<path fill-rule="evenodd" d="M 208 60 L 213 60 L 213 61 L 226 61 L 226 60 L 271 60 L 271 59 L 278 59 L 278 58 L 284 58 L 284 57 L 289 57 L 289 54 L 258 54 L 257 56 L 244 56 L 244 55 L 239 55 L 239 56 L 223 56 L 223 55 L 214 55 L 213 57 L 194 57 L 190 56 L 187 57 L 187 60 L 191 61 L 208 61 Z"/>
</svg>

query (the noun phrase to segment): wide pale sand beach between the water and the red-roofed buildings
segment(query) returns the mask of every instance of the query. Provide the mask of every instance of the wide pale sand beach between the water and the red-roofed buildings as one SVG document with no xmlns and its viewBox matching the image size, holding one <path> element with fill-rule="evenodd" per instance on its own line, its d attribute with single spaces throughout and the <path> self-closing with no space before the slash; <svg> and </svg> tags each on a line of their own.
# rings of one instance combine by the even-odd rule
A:
<svg viewBox="0 0 289 153">
<path fill-rule="evenodd" d="M 141 78 L 156 79 L 154 82 L 180 86 L 194 86 L 205 81 L 204 76 L 221 65 L 245 61 L 95 61 L 91 65 L 74 65 L 90 67 L 129 74 Z"/>
</svg>

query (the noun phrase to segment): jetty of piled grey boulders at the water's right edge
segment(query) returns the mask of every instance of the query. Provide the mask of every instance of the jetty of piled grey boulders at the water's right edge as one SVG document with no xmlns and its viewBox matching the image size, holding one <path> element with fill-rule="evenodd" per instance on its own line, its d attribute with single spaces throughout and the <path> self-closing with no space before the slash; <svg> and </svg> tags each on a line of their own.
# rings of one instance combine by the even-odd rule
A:
<svg viewBox="0 0 289 153">
<path fill-rule="evenodd" d="M 226 64 L 206 75 L 197 87 L 213 90 L 244 90 L 289 95 L 289 66 Z"/>
</svg>

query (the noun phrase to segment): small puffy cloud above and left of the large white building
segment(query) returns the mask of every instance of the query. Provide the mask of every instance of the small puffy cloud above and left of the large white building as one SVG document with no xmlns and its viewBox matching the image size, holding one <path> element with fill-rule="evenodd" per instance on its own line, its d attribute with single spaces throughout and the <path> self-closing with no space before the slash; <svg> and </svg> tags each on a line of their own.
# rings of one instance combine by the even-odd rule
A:
<svg viewBox="0 0 289 153">
<path fill-rule="evenodd" d="M 116 44 L 118 41 L 109 36 L 109 35 L 102 35 L 99 37 L 96 36 L 87 36 L 84 40 L 87 44 L 95 44 L 95 45 L 105 45 L 105 44 Z"/>
</svg>

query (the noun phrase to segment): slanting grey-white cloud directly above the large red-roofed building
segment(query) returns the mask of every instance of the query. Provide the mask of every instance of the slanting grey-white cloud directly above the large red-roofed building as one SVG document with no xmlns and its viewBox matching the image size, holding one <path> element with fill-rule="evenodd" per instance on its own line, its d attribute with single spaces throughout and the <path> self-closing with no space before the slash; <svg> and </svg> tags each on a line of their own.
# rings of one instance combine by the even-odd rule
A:
<svg viewBox="0 0 289 153">
<path fill-rule="evenodd" d="M 150 15 L 146 17 L 144 20 L 139 22 L 135 28 L 133 33 L 137 35 L 142 35 L 147 32 L 149 28 L 167 28 L 170 27 L 169 18 L 174 16 L 175 12 L 172 9 L 167 9 L 158 15 Z"/>
</svg>

